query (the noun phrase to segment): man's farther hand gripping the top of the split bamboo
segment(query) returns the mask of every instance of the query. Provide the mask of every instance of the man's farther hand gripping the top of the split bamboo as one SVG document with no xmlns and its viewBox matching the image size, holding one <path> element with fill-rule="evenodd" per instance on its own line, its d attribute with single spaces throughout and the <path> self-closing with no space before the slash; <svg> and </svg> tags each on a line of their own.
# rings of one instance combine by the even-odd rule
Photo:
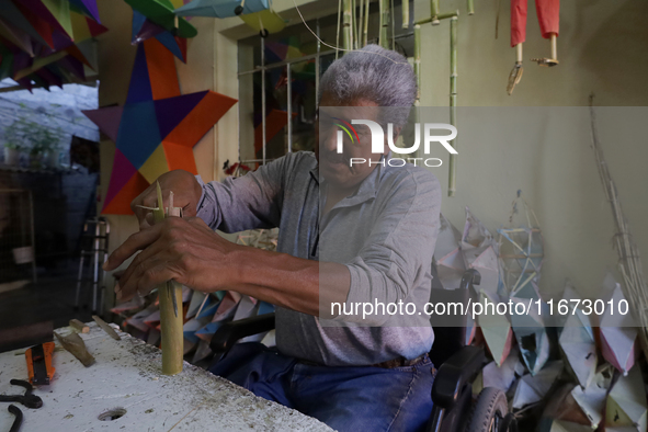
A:
<svg viewBox="0 0 648 432">
<path fill-rule="evenodd" d="M 196 207 L 203 194 L 203 189 L 191 172 L 183 170 L 170 171 L 160 175 L 158 181 L 160 182 L 164 200 L 168 200 L 169 191 L 173 191 L 173 206 L 182 207 L 183 217 L 194 217 L 196 215 Z M 148 186 L 146 191 L 130 203 L 130 208 L 135 212 L 135 216 L 137 216 L 137 220 L 139 221 L 139 228 L 144 229 L 152 225 L 152 215 L 150 211 L 138 207 L 140 205 L 145 207 L 158 206 L 155 183 Z M 167 201 L 162 205 L 167 207 Z"/>
</svg>

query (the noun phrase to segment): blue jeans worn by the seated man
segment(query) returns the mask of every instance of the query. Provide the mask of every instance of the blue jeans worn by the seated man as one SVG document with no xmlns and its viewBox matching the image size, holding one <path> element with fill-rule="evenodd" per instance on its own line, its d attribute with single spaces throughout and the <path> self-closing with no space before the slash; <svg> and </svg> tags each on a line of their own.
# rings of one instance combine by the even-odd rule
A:
<svg viewBox="0 0 648 432">
<path fill-rule="evenodd" d="M 317 366 L 257 342 L 235 345 L 209 372 L 340 432 L 422 431 L 436 373 L 427 355 L 390 370 Z"/>
</svg>

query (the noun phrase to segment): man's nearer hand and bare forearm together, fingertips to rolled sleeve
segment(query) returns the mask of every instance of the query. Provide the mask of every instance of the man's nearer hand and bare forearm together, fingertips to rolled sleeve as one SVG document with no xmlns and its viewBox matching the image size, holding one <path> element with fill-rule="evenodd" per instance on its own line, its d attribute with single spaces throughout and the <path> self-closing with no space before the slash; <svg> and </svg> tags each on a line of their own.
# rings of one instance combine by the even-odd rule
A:
<svg viewBox="0 0 648 432">
<path fill-rule="evenodd" d="M 137 251 L 115 287 L 122 302 L 173 280 L 205 293 L 231 289 L 329 318 L 330 304 L 344 303 L 351 285 L 346 265 L 236 245 L 197 217 L 168 217 L 143 228 L 111 253 L 103 269 L 115 270 Z"/>
</svg>

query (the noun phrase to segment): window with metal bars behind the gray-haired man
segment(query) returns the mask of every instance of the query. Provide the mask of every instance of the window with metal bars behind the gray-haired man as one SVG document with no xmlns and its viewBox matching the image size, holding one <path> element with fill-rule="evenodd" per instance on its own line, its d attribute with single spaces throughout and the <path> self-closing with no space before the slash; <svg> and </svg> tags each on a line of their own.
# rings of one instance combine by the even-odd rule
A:
<svg viewBox="0 0 648 432">
<path fill-rule="evenodd" d="M 394 46 L 412 54 L 411 30 L 400 29 L 394 12 Z M 284 29 L 265 38 L 238 42 L 239 161 L 251 170 L 287 152 L 314 150 L 319 78 L 336 60 L 338 14 Z M 377 2 L 371 3 L 368 43 L 377 43 Z M 338 55 L 342 55 L 339 52 Z M 291 113 L 291 115 L 288 115 Z"/>
</svg>

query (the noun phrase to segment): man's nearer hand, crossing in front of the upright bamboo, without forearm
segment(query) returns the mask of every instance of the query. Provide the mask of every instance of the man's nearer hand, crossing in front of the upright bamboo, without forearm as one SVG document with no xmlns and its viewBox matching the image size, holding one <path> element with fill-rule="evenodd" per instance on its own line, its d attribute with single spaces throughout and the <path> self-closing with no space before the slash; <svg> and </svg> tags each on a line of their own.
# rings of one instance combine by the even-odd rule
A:
<svg viewBox="0 0 648 432">
<path fill-rule="evenodd" d="M 237 248 L 200 218 L 169 217 L 132 235 L 109 257 L 104 270 L 114 270 L 141 251 L 120 277 L 116 293 L 121 300 L 144 296 L 169 280 L 215 292 L 230 282 L 228 254 Z"/>
</svg>

